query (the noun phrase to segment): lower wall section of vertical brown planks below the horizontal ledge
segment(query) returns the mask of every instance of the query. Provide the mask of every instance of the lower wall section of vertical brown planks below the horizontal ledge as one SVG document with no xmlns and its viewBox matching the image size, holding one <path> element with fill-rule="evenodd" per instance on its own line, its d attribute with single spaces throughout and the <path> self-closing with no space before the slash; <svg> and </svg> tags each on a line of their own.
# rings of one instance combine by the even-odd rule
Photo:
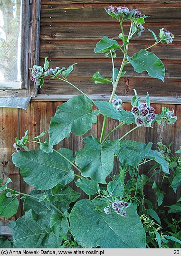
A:
<svg viewBox="0 0 181 256">
<path fill-rule="evenodd" d="M 20 177 L 19 169 L 16 168 L 11 159 L 11 154 L 15 152 L 13 148 L 13 143 L 15 138 L 21 138 L 24 136 L 26 130 L 29 130 L 29 138 L 33 139 L 36 135 L 40 134 L 42 131 L 48 130 L 49 122 L 51 116 L 55 114 L 57 109 L 57 105 L 62 104 L 63 102 L 46 102 L 46 101 L 31 101 L 27 110 L 17 109 L 17 108 L 0 108 L 0 176 L 6 180 L 7 177 L 10 177 L 13 183 L 10 183 L 11 188 L 16 189 L 21 192 L 28 193 L 32 187 L 27 185 L 22 178 Z M 161 112 L 160 104 L 152 104 L 155 107 L 156 112 Z M 175 114 L 179 117 L 178 121 L 172 125 L 167 127 L 162 127 L 157 124 L 154 125 L 154 128 L 138 128 L 133 133 L 130 133 L 125 139 L 132 139 L 140 142 L 148 143 L 152 141 L 153 148 L 156 149 L 156 143 L 158 141 L 162 141 L 163 144 L 168 145 L 171 141 L 174 141 L 172 145 L 173 152 L 177 149 L 180 149 L 181 146 L 181 105 L 163 105 L 169 108 L 173 108 L 175 110 Z M 124 108 L 130 110 L 131 104 L 125 103 Z M 101 128 L 102 128 L 103 116 L 98 116 L 97 124 L 93 125 L 92 129 L 88 131 L 83 136 L 75 136 L 71 134 L 70 138 L 64 139 L 56 148 L 64 147 L 72 149 L 75 153 L 76 150 L 80 150 L 83 148 L 83 139 L 87 135 L 93 135 L 97 138 L 100 138 Z M 106 134 L 108 131 L 112 130 L 117 126 L 117 121 L 109 120 L 106 127 Z M 115 134 L 110 137 L 110 139 L 120 138 L 123 134 L 125 134 L 131 126 L 123 126 L 120 130 L 116 130 Z M 37 145 L 29 145 L 29 149 L 37 148 Z M 150 163 L 151 166 L 153 162 Z M 143 173 L 147 174 L 148 167 L 144 167 L 142 169 Z M 161 182 L 161 176 L 156 178 L 158 183 Z M 77 190 L 74 182 L 72 182 L 72 187 Z M 168 184 L 163 183 L 163 189 L 167 192 L 166 199 L 169 198 L 171 202 L 175 202 L 176 199 L 180 197 L 180 190 L 178 190 L 177 194 L 171 193 L 168 191 Z M 153 192 L 151 186 L 147 188 L 145 193 L 149 196 L 149 198 L 153 199 Z M 86 197 L 83 193 L 82 197 Z M 22 214 L 22 205 L 19 207 L 19 212 L 16 214 L 15 218 Z M 8 220 L 3 219 L 3 222 L 10 221 L 13 218 L 9 218 Z"/>
</svg>

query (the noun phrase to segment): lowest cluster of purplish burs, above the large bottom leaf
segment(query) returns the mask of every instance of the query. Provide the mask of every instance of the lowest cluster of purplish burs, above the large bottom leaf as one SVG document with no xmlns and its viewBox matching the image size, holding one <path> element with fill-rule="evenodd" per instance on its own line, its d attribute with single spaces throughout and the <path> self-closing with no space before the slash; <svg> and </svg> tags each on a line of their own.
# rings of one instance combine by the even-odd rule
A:
<svg viewBox="0 0 181 256">
<path fill-rule="evenodd" d="M 116 199 L 112 203 L 112 205 L 109 205 L 108 207 L 104 208 L 104 212 L 106 214 L 110 214 L 111 213 L 111 206 L 114 209 L 115 213 L 119 214 L 122 217 L 125 217 L 126 216 L 125 209 L 129 206 L 129 203 Z"/>
</svg>

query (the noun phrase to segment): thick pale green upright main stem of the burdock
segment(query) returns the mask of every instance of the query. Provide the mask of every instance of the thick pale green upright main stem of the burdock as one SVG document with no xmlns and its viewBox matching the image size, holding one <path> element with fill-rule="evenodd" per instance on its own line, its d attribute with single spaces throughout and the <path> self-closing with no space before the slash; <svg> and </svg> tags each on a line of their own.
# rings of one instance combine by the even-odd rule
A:
<svg viewBox="0 0 181 256">
<path fill-rule="evenodd" d="M 128 43 L 129 43 L 130 35 L 131 35 L 131 32 L 132 32 L 132 26 L 133 26 L 133 21 L 131 22 L 130 31 L 129 31 L 129 34 L 128 34 L 128 39 L 127 39 L 127 42 L 128 42 Z M 121 74 L 122 74 L 122 71 L 123 71 L 123 69 L 124 69 L 125 60 L 126 60 L 126 55 L 127 55 L 127 52 L 128 52 L 128 46 L 129 46 L 129 44 L 126 45 L 125 53 L 124 53 L 124 58 L 123 58 L 123 61 L 122 61 L 122 64 L 121 64 L 119 73 L 118 73 L 118 75 L 117 75 L 117 78 L 116 78 L 116 81 L 115 81 L 115 84 L 114 84 L 113 91 L 112 91 L 111 97 L 110 97 L 110 99 L 109 99 L 109 102 L 112 102 L 112 100 L 113 100 L 115 91 L 116 91 L 116 89 L 117 89 L 117 85 L 118 85 L 118 83 L 119 83 L 119 79 L 120 79 Z M 107 117 L 104 117 L 100 142 L 102 142 L 102 139 L 104 138 L 106 123 L 107 123 Z"/>
</svg>

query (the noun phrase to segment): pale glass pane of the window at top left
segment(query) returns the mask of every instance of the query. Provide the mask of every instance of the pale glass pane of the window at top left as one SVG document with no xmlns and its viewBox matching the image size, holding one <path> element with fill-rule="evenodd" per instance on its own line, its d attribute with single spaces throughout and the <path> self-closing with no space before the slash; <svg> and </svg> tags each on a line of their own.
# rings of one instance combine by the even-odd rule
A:
<svg viewBox="0 0 181 256">
<path fill-rule="evenodd" d="M 21 0 L 0 0 L 0 87 L 20 85 Z"/>
</svg>

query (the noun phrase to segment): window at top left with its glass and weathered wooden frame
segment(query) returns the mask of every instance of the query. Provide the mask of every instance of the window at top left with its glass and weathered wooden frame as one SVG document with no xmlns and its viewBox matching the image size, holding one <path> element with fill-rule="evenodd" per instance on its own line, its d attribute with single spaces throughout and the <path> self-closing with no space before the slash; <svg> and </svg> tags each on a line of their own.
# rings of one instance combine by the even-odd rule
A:
<svg viewBox="0 0 181 256">
<path fill-rule="evenodd" d="M 36 96 L 40 0 L 0 0 L 0 96 Z"/>
</svg>

